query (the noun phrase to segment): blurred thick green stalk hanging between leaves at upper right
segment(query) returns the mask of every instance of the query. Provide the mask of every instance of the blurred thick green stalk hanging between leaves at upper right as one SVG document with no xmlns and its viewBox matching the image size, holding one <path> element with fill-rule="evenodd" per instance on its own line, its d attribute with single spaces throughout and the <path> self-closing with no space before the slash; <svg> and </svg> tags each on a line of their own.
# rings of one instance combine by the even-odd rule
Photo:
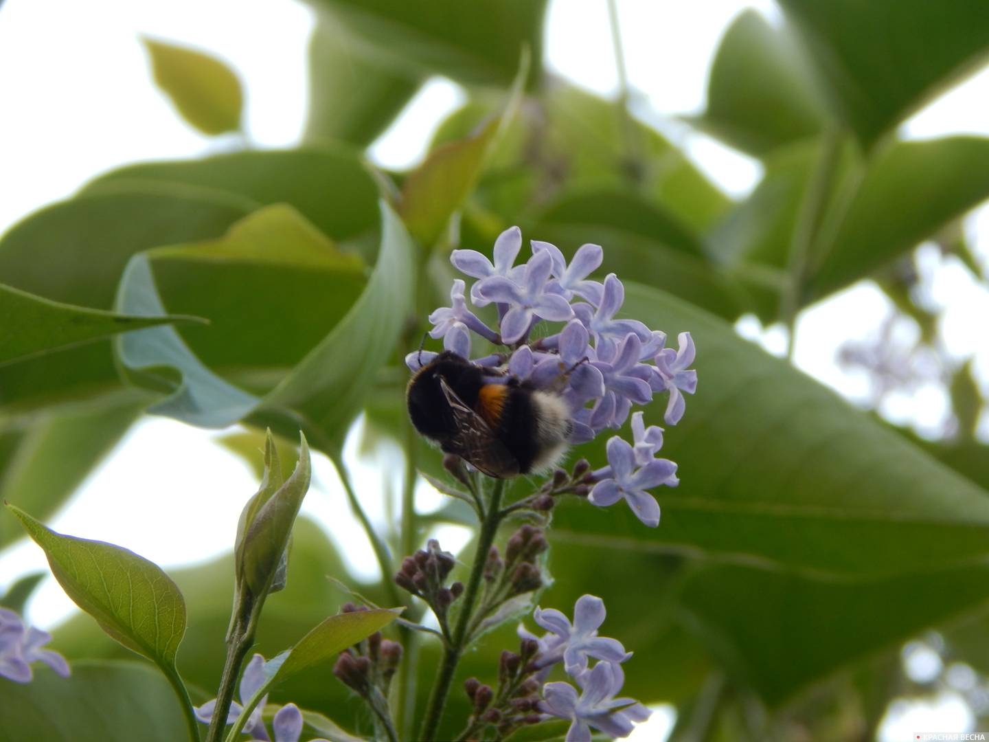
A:
<svg viewBox="0 0 989 742">
<path fill-rule="evenodd" d="M 836 129 L 826 129 L 821 137 L 821 153 L 811 175 L 796 228 L 790 240 L 790 250 L 786 261 L 786 286 L 780 301 L 780 316 L 787 329 L 786 356 L 793 359 L 793 335 L 796 329 L 797 314 L 803 299 L 804 284 L 807 279 L 807 266 L 811 248 L 817 240 L 838 170 L 842 137 Z"/>
</svg>

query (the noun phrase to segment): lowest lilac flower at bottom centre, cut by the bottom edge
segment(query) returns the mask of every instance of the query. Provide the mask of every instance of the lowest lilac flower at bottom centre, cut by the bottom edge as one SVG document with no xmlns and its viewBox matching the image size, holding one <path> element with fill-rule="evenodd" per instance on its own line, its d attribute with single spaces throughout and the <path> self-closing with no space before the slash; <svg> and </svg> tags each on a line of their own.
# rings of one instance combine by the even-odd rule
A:
<svg viewBox="0 0 989 742">
<path fill-rule="evenodd" d="M 619 665 L 598 662 L 577 678 L 582 693 L 569 683 L 547 683 L 543 688 L 545 700 L 539 710 L 551 716 L 569 719 L 567 742 L 590 742 L 593 727 L 611 737 L 627 737 L 635 727 L 633 722 L 645 721 L 650 710 L 634 698 L 616 698 L 625 683 Z"/>
</svg>

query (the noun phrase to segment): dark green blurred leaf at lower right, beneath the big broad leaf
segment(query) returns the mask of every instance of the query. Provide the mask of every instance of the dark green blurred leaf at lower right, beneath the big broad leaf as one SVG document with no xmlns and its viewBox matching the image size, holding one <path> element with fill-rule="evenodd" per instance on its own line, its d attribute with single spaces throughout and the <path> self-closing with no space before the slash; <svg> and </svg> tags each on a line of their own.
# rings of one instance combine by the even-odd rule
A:
<svg viewBox="0 0 989 742">
<path fill-rule="evenodd" d="M 680 603 L 687 624 L 733 676 L 775 705 L 984 605 L 986 577 L 985 567 L 967 566 L 845 583 L 724 565 L 696 572 Z"/>
</svg>

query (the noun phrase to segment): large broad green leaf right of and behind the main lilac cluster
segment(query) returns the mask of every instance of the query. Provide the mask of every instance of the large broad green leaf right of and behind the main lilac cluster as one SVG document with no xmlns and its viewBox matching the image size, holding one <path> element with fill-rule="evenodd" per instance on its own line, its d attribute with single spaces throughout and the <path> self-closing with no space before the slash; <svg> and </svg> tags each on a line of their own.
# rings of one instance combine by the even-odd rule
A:
<svg viewBox="0 0 989 742">
<path fill-rule="evenodd" d="M 656 491 L 655 530 L 623 504 L 577 503 L 558 509 L 555 531 L 842 579 L 945 569 L 989 553 L 985 491 L 731 325 L 633 284 L 622 312 L 696 342 L 697 393 L 663 450 L 680 485 Z M 662 424 L 663 409 L 654 402 L 646 419 Z M 599 437 L 580 452 L 592 466 L 604 461 Z"/>
</svg>

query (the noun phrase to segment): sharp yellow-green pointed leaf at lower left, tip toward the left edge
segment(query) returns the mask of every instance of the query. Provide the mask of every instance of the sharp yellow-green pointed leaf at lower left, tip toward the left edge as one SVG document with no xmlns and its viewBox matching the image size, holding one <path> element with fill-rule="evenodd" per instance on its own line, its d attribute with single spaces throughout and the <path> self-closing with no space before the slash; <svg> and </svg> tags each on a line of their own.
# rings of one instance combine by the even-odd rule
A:
<svg viewBox="0 0 989 742">
<path fill-rule="evenodd" d="M 51 573 L 72 602 L 112 638 L 174 674 L 186 609 L 168 575 L 133 551 L 55 533 L 24 510 L 7 507 L 45 550 Z"/>
</svg>

